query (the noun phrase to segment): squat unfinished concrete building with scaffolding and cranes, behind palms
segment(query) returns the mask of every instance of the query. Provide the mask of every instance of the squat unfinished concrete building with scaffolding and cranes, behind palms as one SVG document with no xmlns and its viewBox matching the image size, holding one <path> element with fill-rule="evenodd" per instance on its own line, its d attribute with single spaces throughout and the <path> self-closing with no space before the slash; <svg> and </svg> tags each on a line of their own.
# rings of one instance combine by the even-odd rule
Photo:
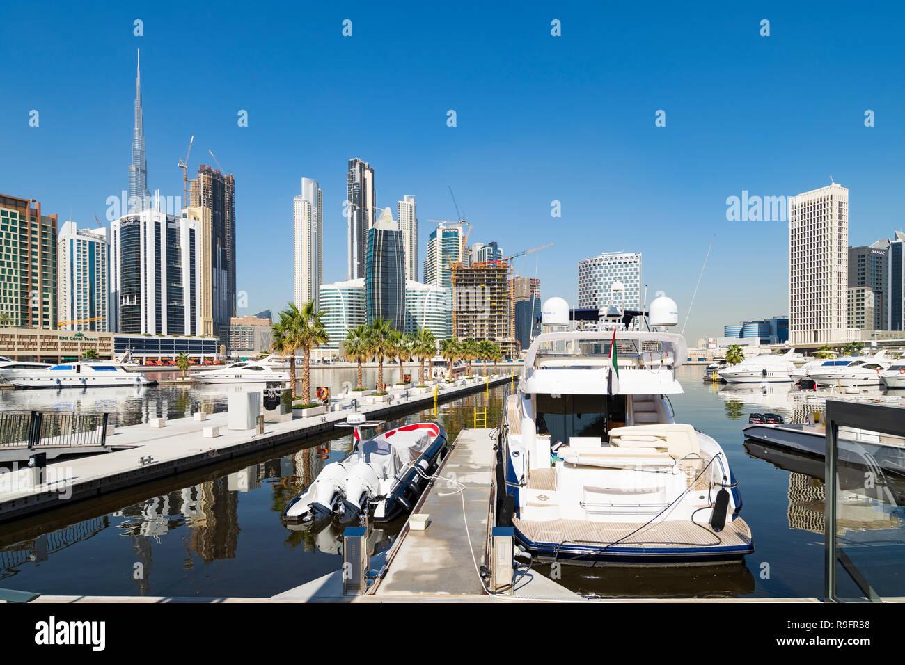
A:
<svg viewBox="0 0 905 665">
<path fill-rule="evenodd" d="M 452 335 L 458 339 L 491 340 L 503 356 L 518 356 L 513 337 L 514 309 L 506 261 L 465 267 L 452 263 Z"/>
</svg>

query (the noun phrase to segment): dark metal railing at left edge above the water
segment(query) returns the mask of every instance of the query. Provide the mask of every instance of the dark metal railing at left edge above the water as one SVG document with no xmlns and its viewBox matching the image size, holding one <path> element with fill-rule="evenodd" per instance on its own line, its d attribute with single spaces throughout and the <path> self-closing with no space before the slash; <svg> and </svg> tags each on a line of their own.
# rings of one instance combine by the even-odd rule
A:
<svg viewBox="0 0 905 665">
<path fill-rule="evenodd" d="M 0 411 L 0 449 L 104 446 L 109 413 Z"/>
</svg>

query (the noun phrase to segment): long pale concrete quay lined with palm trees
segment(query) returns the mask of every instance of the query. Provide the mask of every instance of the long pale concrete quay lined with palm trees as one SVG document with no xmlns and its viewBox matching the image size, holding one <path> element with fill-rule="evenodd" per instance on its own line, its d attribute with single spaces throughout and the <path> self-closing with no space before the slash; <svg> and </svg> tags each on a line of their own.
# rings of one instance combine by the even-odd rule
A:
<svg viewBox="0 0 905 665">
<path fill-rule="evenodd" d="M 481 376 L 472 382 L 459 380 L 438 386 L 437 400 L 445 403 L 511 380 L 511 375 L 496 375 L 489 380 Z M 433 399 L 433 392 L 410 394 L 407 398 L 405 394 L 395 394 L 392 401 L 379 404 L 364 405 L 358 399 L 357 411 L 367 413 L 369 419 L 392 419 L 427 408 Z M 352 402 L 349 396 L 335 398 L 333 404 L 340 405 L 338 411 L 266 423 L 262 434 L 257 430 L 227 429 L 226 413 L 208 415 L 204 421 L 179 418 L 167 421 L 163 427 L 149 423 L 119 427 L 108 443 L 120 450 L 49 463 L 44 482 L 37 487 L 33 486 L 31 469 L 2 470 L 0 523 L 332 432 L 338 423 L 346 421 Z M 205 437 L 208 427 L 219 428 L 220 435 Z"/>
</svg>

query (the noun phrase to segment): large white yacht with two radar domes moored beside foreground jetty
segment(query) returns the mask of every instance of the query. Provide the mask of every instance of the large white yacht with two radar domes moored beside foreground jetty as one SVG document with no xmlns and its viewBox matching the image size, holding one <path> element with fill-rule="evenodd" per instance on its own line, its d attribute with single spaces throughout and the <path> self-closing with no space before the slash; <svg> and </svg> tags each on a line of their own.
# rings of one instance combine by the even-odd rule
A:
<svg viewBox="0 0 905 665">
<path fill-rule="evenodd" d="M 559 563 L 711 564 L 753 552 L 726 454 L 672 411 L 684 337 L 626 330 L 612 306 L 603 331 L 567 331 L 567 307 L 544 304 L 545 332 L 506 399 L 501 526 L 508 508 L 519 545 Z M 654 328 L 677 318 L 672 299 L 651 303 Z"/>
</svg>

